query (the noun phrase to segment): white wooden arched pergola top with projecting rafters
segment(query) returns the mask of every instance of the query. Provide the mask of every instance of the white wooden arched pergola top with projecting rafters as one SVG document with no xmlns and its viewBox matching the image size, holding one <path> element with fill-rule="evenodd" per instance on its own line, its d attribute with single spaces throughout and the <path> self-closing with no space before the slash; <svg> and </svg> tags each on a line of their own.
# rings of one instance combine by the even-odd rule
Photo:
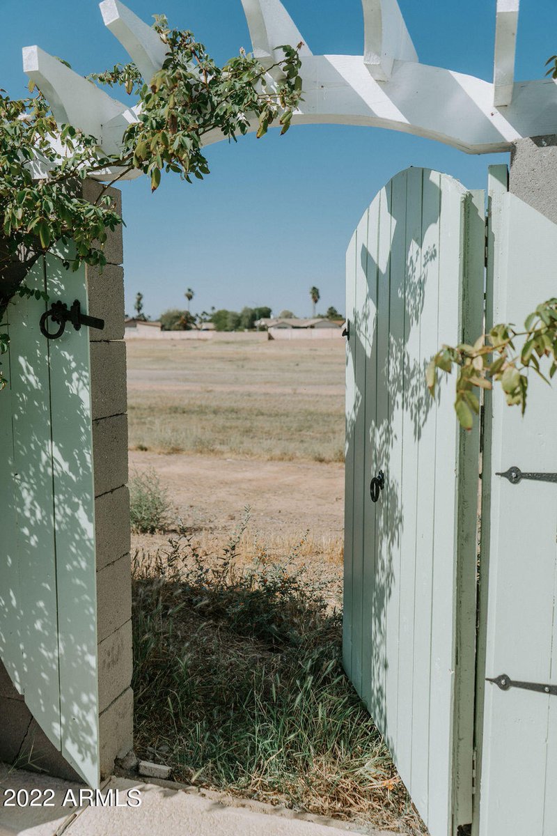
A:
<svg viewBox="0 0 557 836">
<path fill-rule="evenodd" d="M 497 0 L 494 80 L 422 64 L 397 0 L 362 0 L 362 55 L 313 55 L 281 0 L 241 0 L 254 54 L 265 65 L 281 43 L 303 42 L 303 102 L 293 125 L 339 124 L 401 130 L 453 145 L 468 154 L 510 150 L 526 136 L 557 133 L 553 79 L 516 82 L 514 52 L 519 0 Z M 103 0 L 104 24 L 144 78 L 162 66 L 165 45 L 120 0 Z M 60 124 L 68 122 L 117 153 L 137 110 L 113 99 L 38 47 L 23 50 L 23 69 L 48 98 Z M 270 79 L 272 82 L 272 79 Z M 256 129 L 256 120 L 250 130 Z M 224 139 L 220 131 L 205 144 Z"/>
</svg>

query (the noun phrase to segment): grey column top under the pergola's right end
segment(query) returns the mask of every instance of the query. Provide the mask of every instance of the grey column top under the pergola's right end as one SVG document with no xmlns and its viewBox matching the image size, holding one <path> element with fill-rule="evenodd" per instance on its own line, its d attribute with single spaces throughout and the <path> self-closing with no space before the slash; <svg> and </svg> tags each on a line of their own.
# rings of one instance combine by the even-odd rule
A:
<svg viewBox="0 0 557 836">
<path fill-rule="evenodd" d="M 514 143 L 509 191 L 557 223 L 557 135 L 530 136 Z"/>
</svg>

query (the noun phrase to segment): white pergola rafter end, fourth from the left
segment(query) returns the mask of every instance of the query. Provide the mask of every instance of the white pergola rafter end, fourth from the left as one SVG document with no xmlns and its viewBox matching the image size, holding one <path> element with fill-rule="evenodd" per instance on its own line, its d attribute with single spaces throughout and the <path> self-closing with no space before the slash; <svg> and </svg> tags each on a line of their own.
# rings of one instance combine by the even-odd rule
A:
<svg viewBox="0 0 557 836">
<path fill-rule="evenodd" d="M 397 0 L 362 0 L 363 62 L 376 81 L 391 78 L 395 61 L 418 63 Z"/>
</svg>

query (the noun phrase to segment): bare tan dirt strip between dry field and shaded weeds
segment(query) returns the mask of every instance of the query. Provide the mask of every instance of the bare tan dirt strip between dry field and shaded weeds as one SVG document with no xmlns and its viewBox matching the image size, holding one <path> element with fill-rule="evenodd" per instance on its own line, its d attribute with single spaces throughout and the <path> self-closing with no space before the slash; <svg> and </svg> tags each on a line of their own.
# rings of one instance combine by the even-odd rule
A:
<svg viewBox="0 0 557 836">
<path fill-rule="evenodd" d="M 343 536 L 344 466 L 129 452 L 129 472 L 153 468 L 177 516 L 194 530 L 230 533 L 243 509 L 251 526 L 273 539 L 310 532 L 316 542 Z"/>
</svg>

